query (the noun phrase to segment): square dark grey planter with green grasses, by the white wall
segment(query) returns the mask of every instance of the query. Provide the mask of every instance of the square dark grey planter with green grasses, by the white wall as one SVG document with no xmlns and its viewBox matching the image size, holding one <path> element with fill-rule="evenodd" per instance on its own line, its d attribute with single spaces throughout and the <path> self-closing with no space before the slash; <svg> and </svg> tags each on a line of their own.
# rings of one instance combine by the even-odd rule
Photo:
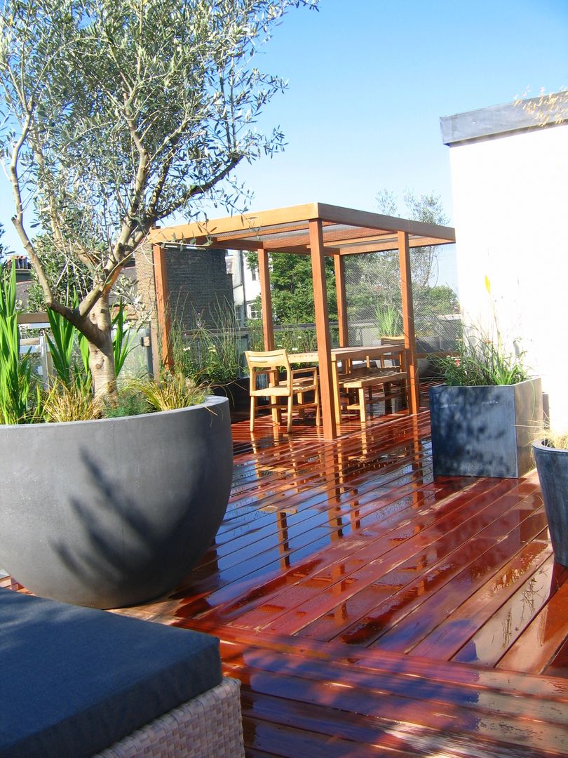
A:
<svg viewBox="0 0 568 758">
<path fill-rule="evenodd" d="M 464 337 L 438 359 L 445 384 L 430 387 L 435 475 L 517 478 L 532 468 L 530 442 L 542 421 L 541 380 L 523 356 L 485 337 Z"/>
</svg>

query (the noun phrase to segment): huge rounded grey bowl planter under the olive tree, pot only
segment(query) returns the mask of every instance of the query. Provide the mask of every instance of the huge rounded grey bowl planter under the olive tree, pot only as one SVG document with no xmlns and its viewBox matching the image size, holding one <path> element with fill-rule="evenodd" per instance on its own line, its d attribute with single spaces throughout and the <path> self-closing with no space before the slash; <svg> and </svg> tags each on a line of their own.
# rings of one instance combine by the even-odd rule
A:
<svg viewBox="0 0 568 758">
<path fill-rule="evenodd" d="M 114 608 L 159 597 L 210 547 L 232 471 L 226 398 L 0 426 L 0 566 L 67 603 Z"/>
</svg>

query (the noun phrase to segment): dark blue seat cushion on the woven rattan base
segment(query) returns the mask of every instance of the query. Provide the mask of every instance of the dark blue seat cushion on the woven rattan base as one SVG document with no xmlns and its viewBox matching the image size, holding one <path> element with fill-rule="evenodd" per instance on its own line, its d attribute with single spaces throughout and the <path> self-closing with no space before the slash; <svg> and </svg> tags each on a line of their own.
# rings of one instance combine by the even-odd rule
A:
<svg viewBox="0 0 568 758">
<path fill-rule="evenodd" d="M 0 589 L 0 756 L 92 756 L 221 681 L 219 641 Z"/>
</svg>

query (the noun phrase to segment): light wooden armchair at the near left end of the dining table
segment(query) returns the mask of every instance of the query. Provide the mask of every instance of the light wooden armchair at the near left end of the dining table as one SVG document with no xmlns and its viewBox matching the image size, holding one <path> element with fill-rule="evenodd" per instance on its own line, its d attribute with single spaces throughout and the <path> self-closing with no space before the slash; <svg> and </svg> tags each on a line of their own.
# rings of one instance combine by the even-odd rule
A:
<svg viewBox="0 0 568 758">
<path fill-rule="evenodd" d="M 254 352 L 246 350 L 245 356 L 248 370 L 251 374 L 251 431 L 254 431 L 254 416 L 256 415 L 257 397 L 269 397 L 273 421 L 280 422 L 280 414 L 284 406 L 279 405 L 279 399 L 286 399 L 288 412 L 287 431 L 292 431 L 292 410 L 308 407 L 316 409 L 316 424 L 320 426 L 320 393 L 317 388 L 317 368 L 298 368 L 292 371 L 286 350 L 270 350 L 269 352 Z M 286 371 L 286 378 L 279 378 L 281 369 Z M 257 388 L 257 377 L 267 379 L 267 387 Z M 304 402 L 304 393 L 313 392 L 314 401 Z M 294 405 L 294 398 L 297 404 Z"/>
</svg>

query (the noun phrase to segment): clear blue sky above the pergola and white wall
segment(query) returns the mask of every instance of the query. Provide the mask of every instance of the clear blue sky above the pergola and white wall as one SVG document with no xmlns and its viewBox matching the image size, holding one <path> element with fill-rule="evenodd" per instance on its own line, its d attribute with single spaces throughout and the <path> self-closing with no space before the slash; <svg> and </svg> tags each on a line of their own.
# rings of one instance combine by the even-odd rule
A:
<svg viewBox="0 0 568 758">
<path fill-rule="evenodd" d="M 409 188 L 440 194 L 451 218 L 439 117 L 568 88 L 568 0 L 320 0 L 289 13 L 258 65 L 289 79 L 260 124 L 287 146 L 239 170 L 251 209 L 373 211 L 379 189 Z M 3 241 L 20 249 L 12 213 L 0 177 Z"/>
</svg>

